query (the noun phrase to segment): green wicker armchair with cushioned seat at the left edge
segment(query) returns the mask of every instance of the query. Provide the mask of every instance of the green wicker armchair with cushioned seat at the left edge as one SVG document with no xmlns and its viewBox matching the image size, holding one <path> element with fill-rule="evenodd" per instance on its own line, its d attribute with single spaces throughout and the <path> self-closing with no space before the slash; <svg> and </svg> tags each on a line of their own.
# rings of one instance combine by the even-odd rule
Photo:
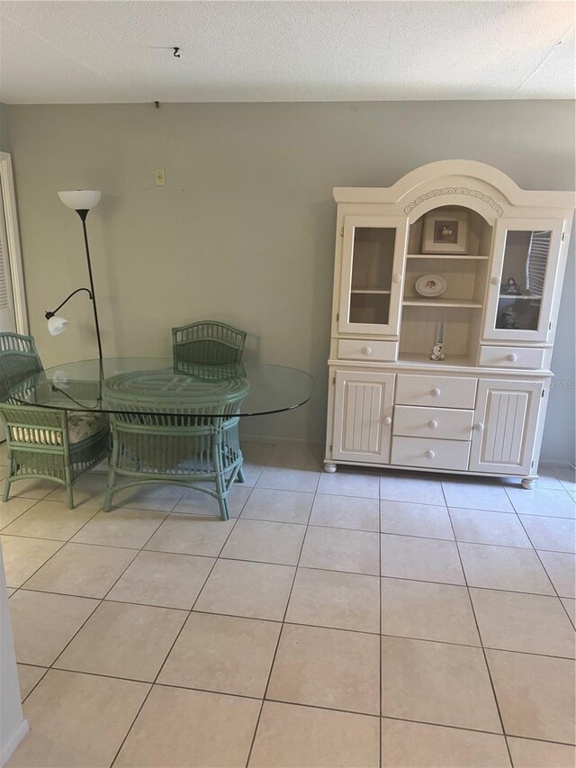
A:
<svg viewBox="0 0 576 768">
<path fill-rule="evenodd" d="M 72 483 L 108 454 L 108 419 L 101 413 L 20 404 L 31 378 L 41 372 L 31 336 L 0 333 L 0 418 L 5 425 L 8 464 L 3 501 L 8 501 L 16 480 L 49 479 L 66 486 L 72 510 Z"/>
</svg>

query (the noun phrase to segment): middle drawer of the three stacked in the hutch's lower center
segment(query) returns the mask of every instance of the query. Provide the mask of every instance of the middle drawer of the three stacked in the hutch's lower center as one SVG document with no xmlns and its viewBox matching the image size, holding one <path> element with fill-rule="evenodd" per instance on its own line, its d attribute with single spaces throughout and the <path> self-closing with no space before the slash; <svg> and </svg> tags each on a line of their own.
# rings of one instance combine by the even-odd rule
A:
<svg viewBox="0 0 576 768">
<path fill-rule="evenodd" d="M 455 408 L 419 408 L 397 405 L 394 408 L 394 435 L 409 438 L 470 440 L 474 411 Z"/>
</svg>

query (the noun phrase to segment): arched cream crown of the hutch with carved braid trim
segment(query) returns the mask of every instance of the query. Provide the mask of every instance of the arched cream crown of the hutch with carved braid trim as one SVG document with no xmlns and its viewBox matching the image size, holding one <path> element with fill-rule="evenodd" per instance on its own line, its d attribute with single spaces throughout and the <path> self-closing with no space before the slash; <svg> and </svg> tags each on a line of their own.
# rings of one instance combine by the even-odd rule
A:
<svg viewBox="0 0 576 768">
<path fill-rule="evenodd" d="M 400 203 L 410 218 L 446 204 L 471 207 L 487 219 L 502 216 L 502 205 L 506 204 L 571 209 L 574 195 L 573 192 L 522 189 L 498 168 L 476 160 L 428 163 L 389 187 L 334 188 L 337 203 Z"/>
</svg>

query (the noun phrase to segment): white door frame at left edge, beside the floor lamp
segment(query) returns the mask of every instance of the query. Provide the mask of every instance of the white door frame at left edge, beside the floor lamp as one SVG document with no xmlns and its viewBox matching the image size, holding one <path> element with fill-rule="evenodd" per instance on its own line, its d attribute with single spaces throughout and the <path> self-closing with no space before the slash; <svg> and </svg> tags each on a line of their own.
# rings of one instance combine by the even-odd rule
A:
<svg viewBox="0 0 576 768">
<path fill-rule="evenodd" d="M 6 226 L 6 242 L 8 244 L 8 260 L 12 277 L 14 296 L 14 315 L 18 333 L 28 333 L 28 310 L 24 287 L 22 264 L 22 249 L 18 232 L 18 214 L 16 211 L 16 194 L 14 192 L 14 174 L 12 171 L 12 155 L 0 152 L 0 186 L 4 203 L 4 223 Z"/>
</svg>

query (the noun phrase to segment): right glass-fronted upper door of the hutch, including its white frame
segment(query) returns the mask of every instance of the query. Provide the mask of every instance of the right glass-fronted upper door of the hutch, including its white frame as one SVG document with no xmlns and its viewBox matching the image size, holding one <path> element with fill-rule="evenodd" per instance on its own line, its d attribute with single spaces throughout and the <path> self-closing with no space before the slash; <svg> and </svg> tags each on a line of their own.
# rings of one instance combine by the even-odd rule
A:
<svg viewBox="0 0 576 768">
<path fill-rule="evenodd" d="M 485 339 L 545 341 L 562 231 L 563 221 L 498 222 Z"/>
</svg>

